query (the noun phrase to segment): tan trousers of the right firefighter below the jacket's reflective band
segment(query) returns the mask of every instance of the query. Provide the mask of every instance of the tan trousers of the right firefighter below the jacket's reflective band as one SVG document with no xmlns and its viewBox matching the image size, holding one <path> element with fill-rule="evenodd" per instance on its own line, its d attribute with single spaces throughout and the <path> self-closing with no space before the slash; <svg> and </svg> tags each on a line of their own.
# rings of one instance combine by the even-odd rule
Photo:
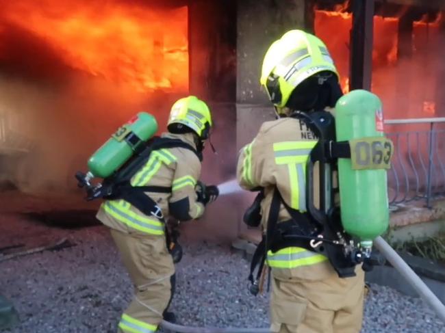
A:
<svg viewBox="0 0 445 333">
<path fill-rule="evenodd" d="M 359 333 L 364 271 L 339 278 L 327 261 L 294 269 L 272 268 L 270 332 Z"/>
</svg>

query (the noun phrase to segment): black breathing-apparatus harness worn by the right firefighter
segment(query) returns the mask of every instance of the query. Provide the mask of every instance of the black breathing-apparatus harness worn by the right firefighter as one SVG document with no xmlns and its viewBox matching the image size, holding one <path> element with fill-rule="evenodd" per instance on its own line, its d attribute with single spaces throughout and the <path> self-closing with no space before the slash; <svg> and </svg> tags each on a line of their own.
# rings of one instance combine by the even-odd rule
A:
<svg viewBox="0 0 445 333">
<path fill-rule="evenodd" d="M 339 189 L 332 187 L 334 172 L 337 171 L 339 158 L 351 159 L 350 142 L 335 142 L 335 120 L 327 111 L 309 114 L 296 113 L 292 117 L 307 124 L 318 136 L 316 146 L 309 154 L 306 172 L 307 212 L 292 209 L 281 197 L 275 187 L 268 215 L 268 224 L 262 241 L 257 246 L 251 262 L 249 280 L 251 292 L 259 291 L 258 282 L 262 276 L 268 252 L 278 252 L 284 248 L 298 247 L 322 254 L 340 278 L 355 276 L 357 264 L 364 263 L 365 270 L 380 264 L 379 256 L 370 256 L 357 246 L 355 239 L 342 227 L 340 207 L 333 204 Z M 320 207 L 314 205 L 314 165 L 318 163 Z M 261 191 L 251 208 L 244 215 L 244 222 L 249 226 L 259 226 L 259 202 L 264 198 Z M 281 204 L 290 215 L 290 219 L 278 222 Z M 256 223 L 255 223 L 256 222 Z M 255 275 L 255 270 L 257 274 Z"/>
</svg>

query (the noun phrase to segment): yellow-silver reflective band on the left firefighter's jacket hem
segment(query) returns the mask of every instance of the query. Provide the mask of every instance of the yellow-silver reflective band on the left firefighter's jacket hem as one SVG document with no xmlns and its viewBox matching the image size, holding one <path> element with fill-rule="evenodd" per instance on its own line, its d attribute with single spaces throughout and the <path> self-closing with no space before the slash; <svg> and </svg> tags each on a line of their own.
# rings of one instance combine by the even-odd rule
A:
<svg viewBox="0 0 445 333">
<path fill-rule="evenodd" d="M 164 235 L 164 223 L 147 215 L 131 211 L 131 206 L 125 200 L 106 201 L 103 209 L 119 222 L 149 235 Z"/>
</svg>

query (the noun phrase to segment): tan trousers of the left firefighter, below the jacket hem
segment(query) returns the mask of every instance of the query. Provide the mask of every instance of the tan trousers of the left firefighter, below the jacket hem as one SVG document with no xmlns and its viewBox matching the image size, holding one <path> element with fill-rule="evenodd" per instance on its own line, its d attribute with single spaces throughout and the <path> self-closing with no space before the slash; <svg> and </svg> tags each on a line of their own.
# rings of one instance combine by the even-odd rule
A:
<svg viewBox="0 0 445 333">
<path fill-rule="evenodd" d="M 175 273 L 166 239 L 155 235 L 128 235 L 113 229 L 111 234 L 135 287 L 135 295 L 124 312 L 118 332 L 150 332 L 147 330 L 156 328 L 162 321 L 170 301 L 170 276 Z"/>
</svg>

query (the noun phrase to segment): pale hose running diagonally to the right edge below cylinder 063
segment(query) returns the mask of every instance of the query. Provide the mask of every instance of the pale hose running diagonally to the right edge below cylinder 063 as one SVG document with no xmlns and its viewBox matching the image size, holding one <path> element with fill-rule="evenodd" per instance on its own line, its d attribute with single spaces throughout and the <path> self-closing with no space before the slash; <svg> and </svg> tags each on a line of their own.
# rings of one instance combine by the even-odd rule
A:
<svg viewBox="0 0 445 333">
<path fill-rule="evenodd" d="M 379 250 L 383 256 L 387 258 L 389 261 L 402 276 L 407 280 L 407 282 L 416 289 L 417 293 L 422 297 L 424 302 L 426 302 L 435 312 L 437 313 L 437 317 L 442 319 L 445 323 L 445 306 L 440 302 L 440 299 L 437 298 L 436 295 L 427 287 L 421 278 L 417 276 L 416 273 L 403 261 L 401 256 L 391 248 L 390 244 L 388 244 L 385 239 L 382 237 L 377 237 L 374 240 L 374 245 Z"/>
</svg>

